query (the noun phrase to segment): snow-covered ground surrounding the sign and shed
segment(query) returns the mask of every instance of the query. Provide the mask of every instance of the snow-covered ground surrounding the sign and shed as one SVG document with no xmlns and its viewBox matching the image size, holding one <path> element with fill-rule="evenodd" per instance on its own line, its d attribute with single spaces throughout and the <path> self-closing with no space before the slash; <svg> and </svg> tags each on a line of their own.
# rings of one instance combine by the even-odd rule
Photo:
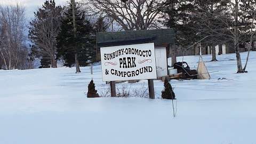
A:
<svg viewBox="0 0 256 144">
<path fill-rule="evenodd" d="M 242 53 L 243 64 L 246 53 Z M 181 58 L 179 58 L 181 59 Z M 171 100 L 86 98 L 94 79 L 99 94 L 107 90 L 101 67 L 0 70 L 0 143 L 256 143 L 256 52 L 249 73 L 236 74 L 235 54 L 209 62 L 210 80 L 176 81 L 177 117 Z M 190 68 L 198 56 L 185 57 Z M 226 79 L 218 79 L 226 78 Z M 131 92 L 147 81 L 121 83 Z M 174 102 L 176 104 L 176 102 Z"/>
</svg>

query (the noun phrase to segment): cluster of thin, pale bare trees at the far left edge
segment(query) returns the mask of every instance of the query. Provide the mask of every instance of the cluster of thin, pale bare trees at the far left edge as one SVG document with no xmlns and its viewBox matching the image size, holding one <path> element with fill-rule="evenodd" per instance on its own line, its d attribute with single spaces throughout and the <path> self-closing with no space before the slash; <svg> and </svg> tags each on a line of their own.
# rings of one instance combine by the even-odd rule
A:
<svg viewBox="0 0 256 144">
<path fill-rule="evenodd" d="M 23 68 L 27 55 L 25 28 L 23 7 L 0 6 L 0 59 L 4 69 Z"/>
</svg>

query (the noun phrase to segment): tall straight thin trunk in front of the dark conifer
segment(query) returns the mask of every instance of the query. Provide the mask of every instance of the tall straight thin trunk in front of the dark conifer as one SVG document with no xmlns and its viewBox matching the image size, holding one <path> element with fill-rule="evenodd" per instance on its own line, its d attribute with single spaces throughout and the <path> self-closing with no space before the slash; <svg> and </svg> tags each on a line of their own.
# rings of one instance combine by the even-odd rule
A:
<svg viewBox="0 0 256 144">
<path fill-rule="evenodd" d="M 75 17 L 75 0 L 71 0 L 72 3 L 72 13 L 73 13 L 73 33 L 74 33 L 74 38 L 76 39 L 76 17 Z M 76 63 L 76 73 L 81 73 L 80 68 L 79 68 L 79 61 L 77 59 L 77 47 L 75 44 L 75 63 Z"/>
</svg>

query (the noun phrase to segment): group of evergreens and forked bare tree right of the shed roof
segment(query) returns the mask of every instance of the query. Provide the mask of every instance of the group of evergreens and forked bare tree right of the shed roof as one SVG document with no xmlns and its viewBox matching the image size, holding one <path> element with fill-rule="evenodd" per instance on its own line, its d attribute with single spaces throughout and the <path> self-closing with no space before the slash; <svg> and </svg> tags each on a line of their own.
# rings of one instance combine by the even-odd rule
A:
<svg viewBox="0 0 256 144">
<path fill-rule="evenodd" d="M 246 72 L 250 50 L 254 50 L 255 7 L 254 0 L 183 1 L 169 0 L 164 3 L 165 25 L 174 28 L 177 42 L 183 47 L 201 41 L 210 46 L 212 60 L 217 60 L 215 45 L 231 43 L 236 53 L 237 73 Z M 239 44 L 249 43 L 246 64 L 243 67 Z"/>
</svg>

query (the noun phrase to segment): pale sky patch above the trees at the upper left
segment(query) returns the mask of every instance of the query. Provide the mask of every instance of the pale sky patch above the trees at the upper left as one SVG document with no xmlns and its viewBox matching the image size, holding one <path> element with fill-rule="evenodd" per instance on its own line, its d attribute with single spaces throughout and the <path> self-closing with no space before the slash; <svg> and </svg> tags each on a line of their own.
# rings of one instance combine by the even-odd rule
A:
<svg viewBox="0 0 256 144">
<path fill-rule="evenodd" d="M 55 0 L 57 5 L 66 5 L 68 0 Z M 21 4 L 25 7 L 26 17 L 30 20 L 34 17 L 34 12 L 38 7 L 42 7 L 45 0 L 0 0 L 0 5 L 15 5 Z"/>
</svg>

